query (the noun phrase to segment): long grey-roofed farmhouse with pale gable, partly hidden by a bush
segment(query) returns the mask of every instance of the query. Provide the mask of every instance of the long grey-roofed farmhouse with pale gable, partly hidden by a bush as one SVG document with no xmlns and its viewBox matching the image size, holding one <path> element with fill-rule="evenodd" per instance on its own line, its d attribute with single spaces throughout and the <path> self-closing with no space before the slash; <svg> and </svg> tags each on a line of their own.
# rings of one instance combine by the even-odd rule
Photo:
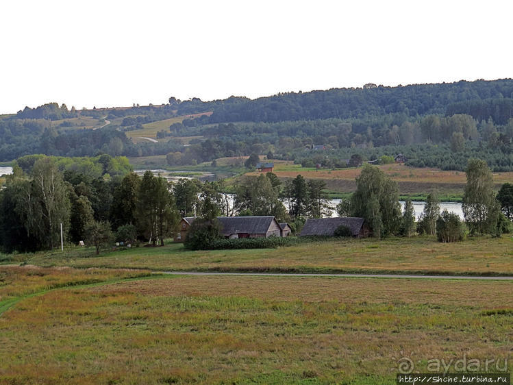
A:
<svg viewBox="0 0 513 385">
<path fill-rule="evenodd" d="M 180 232 L 175 234 L 175 242 L 184 242 L 194 216 L 186 216 L 180 221 Z M 274 216 L 218 216 L 225 238 L 268 238 L 282 236 L 281 226 Z M 290 227 L 288 227 L 290 229 Z"/>
</svg>

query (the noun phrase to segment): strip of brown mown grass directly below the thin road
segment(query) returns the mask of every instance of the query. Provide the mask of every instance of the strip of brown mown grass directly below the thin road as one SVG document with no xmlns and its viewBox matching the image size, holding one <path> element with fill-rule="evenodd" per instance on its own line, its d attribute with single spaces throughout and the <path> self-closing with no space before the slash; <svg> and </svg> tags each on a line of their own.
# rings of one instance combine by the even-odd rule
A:
<svg viewBox="0 0 513 385">
<path fill-rule="evenodd" d="M 149 296 L 237 296 L 273 301 L 343 301 L 344 303 L 430 303 L 513 306 L 512 282 L 340 277 L 191 276 L 175 280 L 132 281 L 91 288 L 94 292 Z"/>
</svg>

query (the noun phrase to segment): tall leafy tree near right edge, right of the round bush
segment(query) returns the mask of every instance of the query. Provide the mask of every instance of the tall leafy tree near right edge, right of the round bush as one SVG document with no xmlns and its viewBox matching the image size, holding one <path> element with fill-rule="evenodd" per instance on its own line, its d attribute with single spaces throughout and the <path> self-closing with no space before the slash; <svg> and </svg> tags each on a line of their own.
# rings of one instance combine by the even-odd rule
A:
<svg viewBox="0 0 513 385">
<path fill-rule="evenodd" d="M 495 198 L 492 172 L 484 160 L 468 160 L 462 209 L 471 234 L 497 232 L 500 204 Z"/>
</svg>

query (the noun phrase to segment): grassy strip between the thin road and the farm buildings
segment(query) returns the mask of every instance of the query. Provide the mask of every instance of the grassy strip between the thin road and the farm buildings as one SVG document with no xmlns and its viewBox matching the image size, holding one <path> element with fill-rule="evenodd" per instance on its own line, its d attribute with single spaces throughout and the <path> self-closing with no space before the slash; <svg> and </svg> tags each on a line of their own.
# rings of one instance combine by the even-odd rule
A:
<svg viewBox="0 0 513 385">
<path fill-rule="evenodd" d="M 23 256 L 18 255 L 18 258 Z M 307 273 L 414 273 L 513 275 L 513 238 L 468 238 L 439 243 L 434 237 L 333 240 L 279 249 L 188 251 L 182 244 L 139 247 L 93 256 L 79 251 L 36 253 L 25 260 L 41 266 L 123 267 L 188 271 Z"/>
</svg>

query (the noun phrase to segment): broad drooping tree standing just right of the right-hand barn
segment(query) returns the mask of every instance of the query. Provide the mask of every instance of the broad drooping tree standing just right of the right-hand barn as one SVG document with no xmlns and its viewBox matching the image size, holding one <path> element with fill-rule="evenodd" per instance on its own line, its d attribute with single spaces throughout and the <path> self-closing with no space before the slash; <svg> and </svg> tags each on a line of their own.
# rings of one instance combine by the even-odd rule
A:
<svg viewBox="0 0 513 385">
<path fill-rule="evenodd" d="M 362 216 L 371 226 L 373 236 L 380 238 L 399 232 L 399 188 L 376 166 L 364 164 L 362 173 L 356 178 L 351 208 L 353 216 Z"/>
</svg>

